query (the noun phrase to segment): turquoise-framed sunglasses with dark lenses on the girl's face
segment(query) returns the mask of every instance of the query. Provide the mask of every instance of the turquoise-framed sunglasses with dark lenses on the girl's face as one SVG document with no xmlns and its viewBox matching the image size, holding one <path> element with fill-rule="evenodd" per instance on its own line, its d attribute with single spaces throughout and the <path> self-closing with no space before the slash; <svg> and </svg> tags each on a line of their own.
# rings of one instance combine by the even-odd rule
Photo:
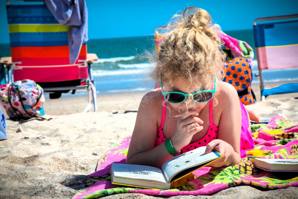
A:
<svg viewBox="0 0 298 199">
<path fill-rule="evenodd" d="M 160 77 L 160 85 L 163 87 L 162 84 L 162 77 Z M 216 77 L 214 78 L 214 89 L 213 90 L 200 90 L 194 93 L 184 93 L 184 92 L 176 92 L 176 91 L 170 91 L 166 92 L 162 89 L 162 95 L 164 96 L 164 99 L 167 102 L 170 102 L 172 104 L 179 104 L 186 100 L 187 96 L 191 95 L 191 98 L 193 101 L 197 103 L 207 102 L 213 98 L 213 95 L 215 93 L 215 87 L 216 87 Z"/>
</svg>

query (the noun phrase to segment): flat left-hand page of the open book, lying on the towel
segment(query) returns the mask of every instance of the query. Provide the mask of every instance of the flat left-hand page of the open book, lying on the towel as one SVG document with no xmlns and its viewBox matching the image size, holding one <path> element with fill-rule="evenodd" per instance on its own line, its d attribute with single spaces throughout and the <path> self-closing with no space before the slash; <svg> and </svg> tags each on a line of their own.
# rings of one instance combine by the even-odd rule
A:
<svg viewBox="0 0 298 199">
<path fill-rule="evenodd" d="M 168 183 L 162 170 L 153 166 L 113 163 L 112 172 L 114 172 L 114 176 L 120 178 L 144 179 Z"/>
</svg>

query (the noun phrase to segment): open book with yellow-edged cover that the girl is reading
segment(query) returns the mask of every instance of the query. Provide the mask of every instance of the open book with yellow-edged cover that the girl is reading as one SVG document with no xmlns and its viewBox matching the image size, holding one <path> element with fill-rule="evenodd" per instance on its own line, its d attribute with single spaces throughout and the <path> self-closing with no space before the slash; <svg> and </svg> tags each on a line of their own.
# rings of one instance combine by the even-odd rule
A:
<svg viewBox="0 0 298 199">
<path fill-rule="evenodd" d="M 113 163 L 112 184 L 141 188 L 171 189 L 172 182 L 222 157 L 216 151 L 205 154 L 206 146 L 177 155 L 166 161 L 162 169 L 152 166 Z"/>
</svg>

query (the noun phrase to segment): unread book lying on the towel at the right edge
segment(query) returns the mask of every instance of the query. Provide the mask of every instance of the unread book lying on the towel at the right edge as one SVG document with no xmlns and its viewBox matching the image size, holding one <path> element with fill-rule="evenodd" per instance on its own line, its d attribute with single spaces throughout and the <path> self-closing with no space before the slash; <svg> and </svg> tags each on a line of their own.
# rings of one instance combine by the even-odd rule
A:
<svg viewBox="0 0 298 199">
<path fill-rule="evenodd" d="M 298 160 L 296 159 L 254 158 L 254 166 L 266 171 L 298 172 Z"/>
</svg>

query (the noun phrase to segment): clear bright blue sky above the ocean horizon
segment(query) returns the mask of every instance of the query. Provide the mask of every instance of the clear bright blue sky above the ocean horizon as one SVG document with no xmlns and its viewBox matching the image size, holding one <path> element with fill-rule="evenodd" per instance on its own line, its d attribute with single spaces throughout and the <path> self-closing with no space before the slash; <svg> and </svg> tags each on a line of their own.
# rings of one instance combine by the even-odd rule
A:
<svg viewBox="0 0 298 199">
<path fill-rule="evenodd" d="M 297 0 L 86 0 L 89 39 L 153 35 L 178 10 L 188 6 L 207 10 L 224 31 L 252 29 L 254 19 L 298 13 Z M 0 43 L 9 43 L 4 1 L 0 4 Z"/>
</svg>

